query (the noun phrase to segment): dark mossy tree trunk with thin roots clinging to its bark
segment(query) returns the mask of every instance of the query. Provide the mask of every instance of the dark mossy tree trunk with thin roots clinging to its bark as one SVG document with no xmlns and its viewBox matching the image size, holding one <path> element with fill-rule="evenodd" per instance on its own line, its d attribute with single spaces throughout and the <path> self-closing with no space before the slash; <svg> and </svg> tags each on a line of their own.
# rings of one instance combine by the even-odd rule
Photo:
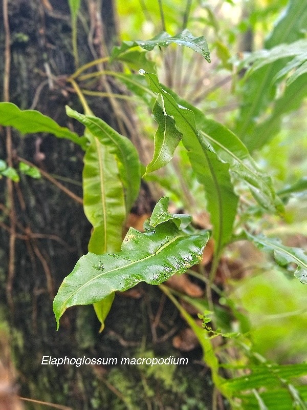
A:
<svg viewBox="0 0 307 410">
<path fill-rule="evenodd" d="M 117 38 L 112 0 L 81 2 L 78 21 L 80 64 L 101 56 Z M 101 6 L 103 12 L 99 12 Z M 4 9 L 0 10 L 1 21 Z M 97 13 L 98 18 L 97 18 Z M 82 129 L 66 115 L 64 106 L 82 111 L 80 103 L 65 81 L 75 70 L 71 45 L 71 23 L 68 2 L 63 0 L 10 0 L 9 30 L 11 36 L 10 101 L 21 109 L 37 109 L 54 118 L 60 125 Z M 0 73 L 5 73 L 5 28 L 0 25 Z M 103 41 L 100 41 L 103 39 Z M 101 85 L 105 87 L 105 85 Z M 110 83 L 109 87 L 115 87 Z M 0 85 L 3 95 L 4 88 Z M 134 114 L 126 103 L 89 98 L 96 115 L 128 135 L 138 145 L 140 139 Z M 120 109 L 122 120 L 116 110 Z M 132 130 L 132 131 L 131 131 Z M 10 154 L 5 144 L 6 130 L 1 130 L 3 144 L 0 157 Z M 82 197 L 81 172 L 83 153 L 72 142 L 50 135 L 20 137 L 12 130 L 12 158 L 26 158 L 53 178 Z M 140 147 L 138 147 L 140 148 Z M 145 153 L 141 152 L 141 156 Z M 60 179 L 58 178 L 60 176 Z M 69 309 L 61 328 L 55 330 L 52 300 L 59 284 L 72 271 L 77 259 L 87 252 L 91 226 L 80 203 L 68 197 L 45 179 L 21 176 L 13 193 L 5 178 L 0 180 L 0 203 L 3 215 L 0 238 L 0 321 L 10 324 L 11 345 L 19 375 L 20 395 L 46 402 L 86 409 L 179 409 L 187 400 L 210 402 L 208 377 L 199 377 L 203 366 L 188 368 L 166 366 L 149 372 L 145 367 L 116 365 L 45 365 L 42 357 L 115 358 L 136 355 L 179 356 L 171 345 L 174 330 L 184 327 L 183 320 L 169 301 L 161 302 L 158 289 L 139 286 L 137 296 L 119 295 L 98 333 L 99 323 L 92 306 Z M 13 276 L 8 278 L 7 255 L 10 254 L 10 199 L 14 203 L 16 226 Z M 152 199 L 143 187 L 137 213 L 149 212 Z M 11 215 L 11 218 L 10 218 Z M 11 282 L 12 290 L 8 282 Z M 164 299 L 163 299 L 164 300 Z M 160 304 L 161 303 L 161 304 Z M 163 319 L 157 329 L 152 323 L 159 306 Z M 169 336 L 167 336 L 169 332 Z M 161 340 L 160 340 L 161 339 Z M 155 353 L 152 353 L 155 352 Z M 196 348 L 189 354 L 201 358 Z M 187 357 L 187 355 L 184 355 Z M 47 359 L 49 362 L 49 359 Z M 176 376 L 176 377 L 175 377 Z M 173 381 L 171 380 L 173 377 Z M 195 381 L 196 380 L 196 381 Z M 182 386 L 180 385 L 182 383 Z M 146 404 L 145 404 L 146 403 Z M 168 406 L 168 407 L 167 407 Z M 192 404 L 191 404 L 192 406 Z M 38 408 L 27 402 L 26 408 Z M 194 407 L 189 408 L 204 408 Z"/>
</svg>

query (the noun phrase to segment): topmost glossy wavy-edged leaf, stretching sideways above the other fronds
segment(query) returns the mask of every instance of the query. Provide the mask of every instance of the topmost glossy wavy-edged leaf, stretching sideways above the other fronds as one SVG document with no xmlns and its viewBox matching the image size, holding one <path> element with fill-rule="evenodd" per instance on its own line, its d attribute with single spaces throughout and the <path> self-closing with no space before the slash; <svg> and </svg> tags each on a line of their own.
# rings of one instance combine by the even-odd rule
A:
<svg viewBox="0 0 307 410">
<path fill-rule="evenodd" d="M 205 37 L 194 37 L 187 29 L 183 30 L 175 36 L 171 36 L 170 34 L 163 31 L 162 33 L 149 40 L 123 42 L 120 47 L 114 48 L 111 57 L 112 59 L 118 58 L 120 54 L 136 46 L 150 51 L 156 46 L 167 47 L 171 43 L 177 44 L 178 46 L 191 48 L 192 50 L 202 54 L 202 56 L 206 58 L 208 63 L 210 63 L 210 52 Z"/>
</svg>

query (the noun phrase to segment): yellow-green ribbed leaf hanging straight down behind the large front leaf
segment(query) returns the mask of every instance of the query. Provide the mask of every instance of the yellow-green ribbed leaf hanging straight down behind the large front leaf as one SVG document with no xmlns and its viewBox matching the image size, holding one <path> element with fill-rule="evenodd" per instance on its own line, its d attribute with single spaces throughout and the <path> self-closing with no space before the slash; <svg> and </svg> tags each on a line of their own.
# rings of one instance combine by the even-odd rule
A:
<svg viewBox="0 0 307 410">
<path fill-rule="evenodd" d="M 93 132 L 97 132 L 95 123 L 98 121 L 97 127 L 99 129 L 99 118 L 93 115 L 87 105 L 84 105 L 84 110 L 92 118 L 92 120 L 87 121 L 90 124 L 89 128 Z M 67 111 L 75 114 L 79 120 L 80 117 L 81 119 L 85 118 L 69 108 L 67 108 Z M 102 121 L 103 124 L 105 125 Z M 117 145 L 125 151 L 126 142 L 119 141 L 120 138 L 116 135 L 115 139 L 110 140 L 107 137 L 108 134 L 105 135 L 105 138 L 99 140 L 96 135 L 91 133 L 89 128 L 85 128 L 85 136 L 91 143 L 84 155 L 83 208 L 87 219 L 94 228 L 89 242 L 89 252 L 103 254 L 120 249 L 127 201 L 125 202 L 124 199 L 124 189 L 115 154 L 118 153 Z M 111 129 L 111 131 L 114 130 Z M 98 134 L 100 135 L 99 132 Z M 126 148 L 129 148 L 129 145 Z M 133 149 L 130 147 L 130 154 L 131 151 Z M 128 194 L 131 194 L 131 192 L 128 191 Z M 114 296 L 115 293 L 113 292 L 108 297 L 94 303 L 95 313 L 101 323 L 100 332 L 104 329 L 104 320 L 111 309 Z"/>
</svg>

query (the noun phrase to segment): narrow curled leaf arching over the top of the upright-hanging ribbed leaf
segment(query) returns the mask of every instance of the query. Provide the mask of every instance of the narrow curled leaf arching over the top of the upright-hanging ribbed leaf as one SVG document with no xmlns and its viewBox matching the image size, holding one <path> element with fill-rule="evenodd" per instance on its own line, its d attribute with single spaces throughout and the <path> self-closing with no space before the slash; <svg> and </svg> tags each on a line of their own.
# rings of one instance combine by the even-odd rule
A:
<svg viewBox="0 0 307 410">
<path fill-rule="evenodd" d="M 101 144 L 107 146 L 110 154 L 116 155 L 120 178 L 126 189 L 126 208 L 129 212 L 138 197 L 141 184 L 140 161 L 135 146 L 102 119 L 79 114 L 69 107 L 66 110 L 70 117 L 80 121 Z M 113 210 L 110 209 L 109 212 Z"/>
</svg>

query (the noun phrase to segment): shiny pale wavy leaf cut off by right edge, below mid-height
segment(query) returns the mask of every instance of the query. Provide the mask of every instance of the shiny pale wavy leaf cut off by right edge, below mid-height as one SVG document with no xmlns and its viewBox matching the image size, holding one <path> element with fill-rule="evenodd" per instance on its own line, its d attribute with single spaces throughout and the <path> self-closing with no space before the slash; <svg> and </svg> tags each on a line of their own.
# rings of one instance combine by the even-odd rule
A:
<svg viewBox="0 0 307 410">
<path fill-rule="evenodd" d="M 295 263 L 297 268 L 294 276 L 302 283 L 307 283 L 307 256 L 300 248 L 286 247 L 279 239 L 267 238 L 264 235 L 251 235 L 246 232 L 246 238 L 252 241 L 260 250 L 271 252 L 276 263 L 287 267 L 289 263 Z"/>
</svg>

